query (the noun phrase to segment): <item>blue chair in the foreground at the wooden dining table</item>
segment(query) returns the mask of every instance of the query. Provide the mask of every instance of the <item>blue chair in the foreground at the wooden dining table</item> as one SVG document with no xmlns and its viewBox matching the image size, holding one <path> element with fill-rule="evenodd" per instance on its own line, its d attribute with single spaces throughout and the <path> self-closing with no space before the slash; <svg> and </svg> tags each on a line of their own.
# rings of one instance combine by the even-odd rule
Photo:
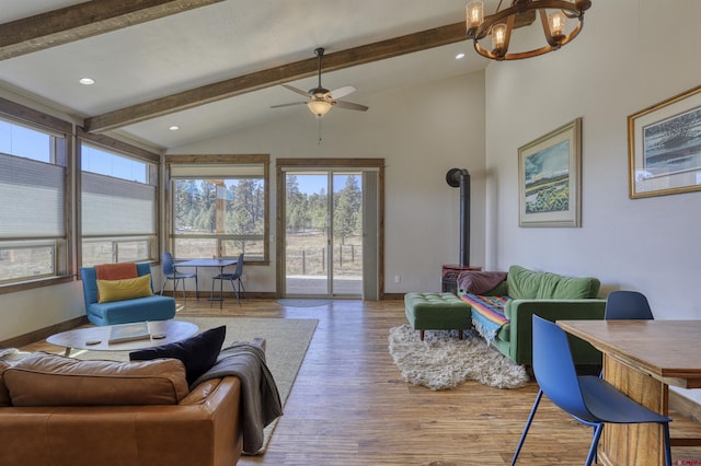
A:
<svg viewBox="0 0 701 466">
<path fill-rule="evenodd" d="M 514 453 L 512 466 L 516 464 L 543 394 L 575 420 L 594 428 L 594 439 L 585 465 L 590 465 L 596 458 L 596 448 L 605 423 L 648 422 L 662 426 L 665 464 L 671 465 L 671 419 L 635 403 L 613 385 L 595 375 L 578 376 L 572 360 L 567 334 L 556 324 L 537 315 L 533 315 L 533 373 L 540 389 Z"/>
</svg>

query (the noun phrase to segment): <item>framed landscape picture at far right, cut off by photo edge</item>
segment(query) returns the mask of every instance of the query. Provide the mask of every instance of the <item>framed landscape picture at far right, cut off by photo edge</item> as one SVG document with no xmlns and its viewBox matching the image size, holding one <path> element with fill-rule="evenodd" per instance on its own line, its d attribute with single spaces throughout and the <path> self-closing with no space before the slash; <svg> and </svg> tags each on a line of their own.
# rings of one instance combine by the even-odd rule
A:
<svg viewBox="0 0 701 466">
<path fill-rule="evenodd" d="M 701 86 L 628 117 L 632 199 L 701 190 Z"/>
</svg>

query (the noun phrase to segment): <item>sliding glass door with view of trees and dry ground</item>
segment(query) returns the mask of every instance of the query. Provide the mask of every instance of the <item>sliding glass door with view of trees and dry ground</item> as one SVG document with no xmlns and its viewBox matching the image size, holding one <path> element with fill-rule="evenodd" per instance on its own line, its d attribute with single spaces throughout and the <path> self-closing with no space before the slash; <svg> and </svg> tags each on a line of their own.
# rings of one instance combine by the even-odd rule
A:
<svg viewBox="0 0 701 466">
<path fill-rule="evenodd" d="M 363 172 L 285 172 L 286 296 L 363 295 Z"/>
</svg>

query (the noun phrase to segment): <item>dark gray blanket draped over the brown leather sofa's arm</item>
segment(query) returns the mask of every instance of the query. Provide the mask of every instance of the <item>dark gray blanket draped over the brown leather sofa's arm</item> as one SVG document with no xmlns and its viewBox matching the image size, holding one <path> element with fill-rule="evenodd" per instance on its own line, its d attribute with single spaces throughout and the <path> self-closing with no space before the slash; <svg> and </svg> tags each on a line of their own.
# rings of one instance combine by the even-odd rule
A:
<svg viewBox="0 0 701 466">
<path fill-rule="evenodd" d="M 283 404 L 273 374 L 265 364 L 265 351 L 237 341 L 219 353 L 215 365 L 193 382 L 235 375 L 241 380 L 243 452 L 255 454 L 263 446 L 263 429 L 283 416 Z"/>
</svg>

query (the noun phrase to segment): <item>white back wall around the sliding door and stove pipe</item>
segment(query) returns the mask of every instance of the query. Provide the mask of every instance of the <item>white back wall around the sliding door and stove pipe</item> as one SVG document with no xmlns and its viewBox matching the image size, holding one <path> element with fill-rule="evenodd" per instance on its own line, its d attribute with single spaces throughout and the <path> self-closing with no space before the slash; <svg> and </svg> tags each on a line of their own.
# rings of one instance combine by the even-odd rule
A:
<svg viewBox="0 0 701 466">
<path fill-rule="evenodd" d="M 459 261 L 459 189 L 452 167 L 472 184 L 471 263 L 484 264 L 484 78 L 482 72 L 397 89 L 363 103 L 367 113 L 333 109 L 318 123 L 298 107 L 265 126 L 175 148 L 169 154 L 269 153 L 269 267 L 245 269 L 250 291 L 275 291 L 275 160 L 381 158 L 386 161 L 384 291 L 439 291 L 443 264 Z M 394 283 L 394 276 L 401 282 Z M 207 287 L 204 284 L 203 287 Z"/>
</svg>

